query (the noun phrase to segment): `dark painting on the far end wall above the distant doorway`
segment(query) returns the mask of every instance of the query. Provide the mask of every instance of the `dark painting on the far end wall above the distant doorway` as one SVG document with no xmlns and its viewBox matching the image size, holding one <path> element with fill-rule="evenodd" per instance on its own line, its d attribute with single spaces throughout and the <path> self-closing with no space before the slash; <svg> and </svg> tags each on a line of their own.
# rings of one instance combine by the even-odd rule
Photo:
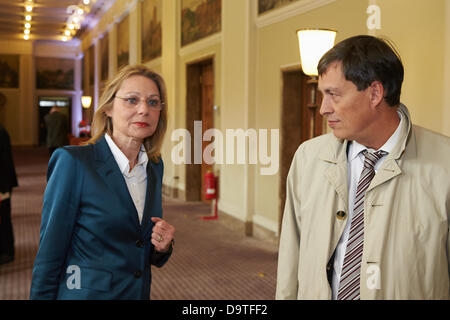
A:
<svg viewBox="0 0 450 320">
<path fill-rule="evenodd" d="M 74 90 L 72 59 L 36 58 L 36 88 Z"/>
</svg>

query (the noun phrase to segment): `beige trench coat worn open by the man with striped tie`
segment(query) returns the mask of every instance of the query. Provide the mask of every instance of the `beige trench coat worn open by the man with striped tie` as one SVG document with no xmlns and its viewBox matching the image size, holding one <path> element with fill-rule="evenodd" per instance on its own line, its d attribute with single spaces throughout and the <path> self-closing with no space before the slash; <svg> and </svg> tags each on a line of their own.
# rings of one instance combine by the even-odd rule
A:
<svg viewBox="0 0 450 320">
<path fill-rule="evenodd" d="M 448 299 L 450 138 L 412 126 L 405 106 L 399 111 L 407 120 L 401 138 L 365 198 L 361 299 Z M 277 299 L 331 299 L 327 263 L 347 222 L 347 143 L 327 134 L 294 156 Z"/>
</svg>

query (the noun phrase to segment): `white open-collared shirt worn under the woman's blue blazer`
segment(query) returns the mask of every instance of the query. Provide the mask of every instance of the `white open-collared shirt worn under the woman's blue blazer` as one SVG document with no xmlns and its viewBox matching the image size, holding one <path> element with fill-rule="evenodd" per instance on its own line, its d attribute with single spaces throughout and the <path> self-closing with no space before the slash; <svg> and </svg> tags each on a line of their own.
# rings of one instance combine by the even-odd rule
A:
<svg viewBox="0 0 450 320">
<path fill-rule="evenodd" d="M 147 163 L 148 156 L 145 151 L 140 151 L 137 164 L 133 170 L 130 171 L 130 163 L 128 158 L 123 154 L 119 147 L 114 143 L 111 137 L 105 134 L 106 142 L 114 156 L 114 159 L 119 166 L 120 172 L 125 179 L 125 182 L 130 192 L 130 196 L 133 199 L 134 206 L 136 207 L 139 223 L 142 223 L 142 217 L 144 214 L 145 206 L 145 194 L 147 192 Z M 144 150 L 144 146 L 141 146 L 141 150 Z"/>
</svg>

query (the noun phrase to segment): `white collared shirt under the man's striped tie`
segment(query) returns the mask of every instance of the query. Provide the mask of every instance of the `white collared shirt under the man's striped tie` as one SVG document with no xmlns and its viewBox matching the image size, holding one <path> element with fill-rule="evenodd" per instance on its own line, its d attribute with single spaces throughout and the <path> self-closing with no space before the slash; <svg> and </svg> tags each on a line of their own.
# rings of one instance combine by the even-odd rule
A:
<svg viewBox="0 0 450 320">
<path fill-rule="evenodd" d="M 345 250 L 347 248 L 347 242 L 350 235 L 350 225 L 352 222 L 353 217 L 353 207 L 355 204 L 355 196 L 356 196 L 356 189 L 358 187 L 359 177 L 361 175 L 361 172 L 364 167 L 364 154 L 362 153 L 363 150 L 368 150 L 369 152 L 375 152 L 379 150 L 386 151 L 387 153 L 390 153 L 395 145 L 397 144 L 397 141 L 400 136 L 400 128 L 402 126 L 403 116 L 400 112 L 397 112 L 400 117 L 400 124 L 398 125 L 395 132 L 392 134 L 392 136 L 386 141 L 386 143 L 378 150 L 373 150 L 370 148 L 367 148 L 363 146 L 362 144 L 359 144 L 356 141 L 349 142 L 348 147 L 348 153 L 347 153 L 347 165 L 348 165 L 348 175 L 347 175 L 347 182 L 349 186 L 348 190 L 348 219 L 347 224 L 345 225 L 344 233 L 341 236 L 341 239 L 339 240 L 339 243 L 336 247 L 335 256 L 334 256 L 334 265 L 333 265 L 333 276 L 332 276 L 332 282 L 331 282 L 331 290 L 332 290 L 332 299 L 336 300 L 339 290 L 339 281 L 341 278 L 341 272 L 342 272 L 342 266 L 344 264 L 344 257 L 345 257 Z M 386 159 L 387 155 L 384 155 L 380 158 L 380 160 L 377 161 L 375 164 L 375 173 L 378 171 L 380 166 L 383 164 L 384 160 Z"/>
</svg>

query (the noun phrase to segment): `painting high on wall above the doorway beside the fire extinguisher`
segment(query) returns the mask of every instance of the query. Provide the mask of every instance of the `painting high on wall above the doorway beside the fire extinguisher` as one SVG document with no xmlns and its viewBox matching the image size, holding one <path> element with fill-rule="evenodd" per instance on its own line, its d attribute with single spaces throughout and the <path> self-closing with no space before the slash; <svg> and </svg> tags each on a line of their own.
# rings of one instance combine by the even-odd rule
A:
<svg viewBox="0 0 450 320">
<path fill-rule="evenodd" d="M 222 0 L 181 0 L 181 45 L 222 29 Z"/>
</svg>

